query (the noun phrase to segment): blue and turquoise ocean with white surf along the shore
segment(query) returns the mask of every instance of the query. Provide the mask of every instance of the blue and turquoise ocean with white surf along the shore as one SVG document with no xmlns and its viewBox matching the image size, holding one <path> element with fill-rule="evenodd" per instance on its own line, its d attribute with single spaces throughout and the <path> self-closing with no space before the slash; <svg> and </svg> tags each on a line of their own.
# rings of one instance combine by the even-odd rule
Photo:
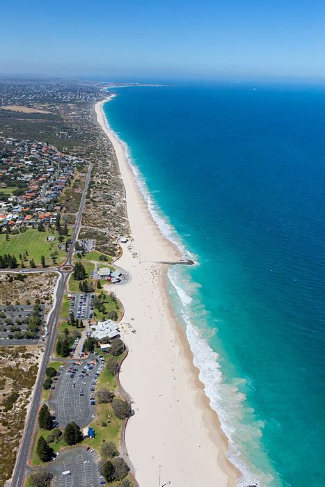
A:
<svg viewBox="0 0 325 487">
<path fill-rule="evenodd" d="M 241 485 L 325 485 L 325 87 L 172 83 L 104 105 Z"/>
</svg>

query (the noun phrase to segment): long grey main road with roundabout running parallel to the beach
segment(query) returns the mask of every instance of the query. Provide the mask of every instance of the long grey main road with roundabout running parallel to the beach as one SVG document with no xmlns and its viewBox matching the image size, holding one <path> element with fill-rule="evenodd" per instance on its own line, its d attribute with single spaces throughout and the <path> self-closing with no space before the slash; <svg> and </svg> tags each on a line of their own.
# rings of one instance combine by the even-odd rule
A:
<svg viewBox="0 0 325 487">
<path fill-rule="evenodd" d="M 65 264 L 63 264 L 62 266 L 58 267 L 57 269 L 53 269 L 58 271 L 61 277 L 58 282 L 58 287 L 56 289 L 56 303 L 54 305 L 54 308 L 52 308 L 51 310 L 51 316 L 49 317 L 49 320 L 47 322 L 48 334 L 45 343 L 45 353 L 42 358 L 42 364 L 40 365 L 40 370 L 38 372 L 38 378 L 36 379 L 37 383 L 33 394 L 31 408 L 29 410 L 29 415 L 26 420 L 24 434 L 22 437 L 22 441 L 20 443 L 19 452 L 17 454 L 17 461 L 16 461 L 15 470 L 11 481 L 11 486 L 13 487 L 21 487 L 24 484 L 24 472 L 26 469 L 26 463 L 27 463 L 27 458 L 29 456 L 29 449 L 31 447 L 31 442 L 33 441 L 33 431 L 35 428 L 35 422 L 37 420 L 38 408 L 40 406 L 40 398 L 42 396 L 42 385 L 45 380 L 45 369 L 47 368 L 49 357 L 51 356 L 51 351 L 54 348 L 54 344 L 56 340 L 56 331 L 57 331 L 56 324 L 58 324 L 58 319 L 60 317 L 61 302 L 63 299 L 63 294 L 67 287 L 68 278 L 72 273 L 72 269 L 69 269 L 68 271 L 65 271 L 64 269 L 65 266 L 72 266 L 72 255 L 74 253 L 74 244 L 77 241 L 79 230 L 81 228 L 82 213 L 84 211 L 86 193 L 90 181 L 90 174 L 91 174 L 92 167 L 93 164 L 89 163 L 88 173 L 86 176 L 84 190 L 81 196 L 81 202 L 80 202 L 76 222 L 74 225 L 74 231 L 72 233 L 72 239 L 71 239 L 70 248 L 68 250 L 67 260 L 65 261 Z M 50 269 L 47 269 L 47 271 L 49 270 Z"/>
</svg>

